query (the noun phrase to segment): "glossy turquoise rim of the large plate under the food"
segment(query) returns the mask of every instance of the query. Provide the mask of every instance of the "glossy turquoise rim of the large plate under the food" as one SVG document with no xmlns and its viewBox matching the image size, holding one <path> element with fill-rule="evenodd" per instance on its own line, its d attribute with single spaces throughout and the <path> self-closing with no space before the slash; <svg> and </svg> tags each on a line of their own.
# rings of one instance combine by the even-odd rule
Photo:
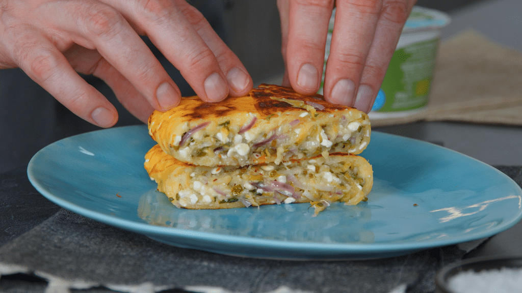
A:
<svg viewBox="0 0 522 293">
<path fill-rule="evenodd" d="M 51 192 L 48 192 L 45 190 L 39 183 L 38 178 L 35 178 L 34 176 L 34 168 L 37 168 L 37 165 L 35 162 L 38 160 L 38 156 L 42 155 L 45 150 L 50 148 L 52 145 L 56 143 L 60 143 L 64 140 L 70 140 L 75 139 L 79 136 L 85 136 L 85 135 L 93 135 L 94 132 L 99 131 L 122 131 L 125 129 L 143 129 L 146 130 L 146 125 L 133 125 L 133 126 L 122 126 L 122 127 L 113 127 L 109 129 L 101 129 L 101 130 L 94 130 L 89 131 L 85 133 L 80 133 L 79 135 L 67 137 L 61 140 L 58 140 L 56 142 L 53 142 L 41 150 L 39 150 L 36 154 L 33 155 L 31 158 L 28 167 L 27 167 L 27 175 L 28 179 L 31 183 L 31 185 L 37 189 L 37 191 L 42 194 L 45 198 L 48 200 L 54 202 L 55 204 L 63 207 L 66 210 L 72 211 L 76 214 L 79 214 L 81 216 L 85 216 L 87 218 L 93 219 L 94 221 L 98 221 L 110 226 L 114 226 L 117 228 L 121 228 L 124 230 L 130 230 L 138 234 L 146 235 L 146 236 L 168 236 L 168 237 L 177 237 L 177 238 L 183 238 L 183 239 L 197 239 L 197 240 L 205 240 L 205 241 L 211 241 L 211 242 L 233 242 L 234 245 L 242 245 L 242 246 L 248 246 L 248 247 L 272 247 L 272 248 L 278 248 L 278 249 L 288 249 L 289 246 L 292 246 L 293 249 L 306 249 L 309 251 L 324 252 L 325 250 L 329 251 L 331 253 L 338 254 L 340 252 L 345 252 L 346 255 L 350 254 L 357 254 L 357 253 L 389 253 L 389 252 L 397 252 L 397 251 L 418 251 L 422 249 L 429 249 L 429 248 L 435 248 L 435 247 L 442 247 L 447 245 L 455 245 L 457 243 L 482 239 L 482 238 L 488 238 L 493 235 L 496 235 L 504 230 L 507 230 L 514 225 L 516 225 L 521 219 L 522 219 L 522 209 L 518 209 L 518 214 L 516 217 L 513 217 L 509 219 L 509 221 L 504 221 L 502 225 L 496 226 L 491 230 L 488 230 L 487 232 L 479 233 L 481 237 L 477 237 L 477 234 L 469 234 L 461 236 L 458 241 L 455 241 L 455 238 L 449 238 L 449 239 L 438 239 L 433 240 L 430 239 L 429 241 L 415 241 L 415 242 L 401 242 L 401 243 L 322 243 L 322 242 L 307 242 L 307 241 L 285 241 L 285 240 L 276 240 L 276 239 L 262 239 L 262 238 L 256 238 L 256 237 L 247 237 L 247 236 L 236 236 L 236 235 L 223 235 L 223 234 L 217 234 L 217 233 L 211 233 L 207 231 L 192 231 L 192 230 L 186 230 L 182 228 L 173 228 L 173 227 L 164 227 L 164 226 L 157 226 L 148 224 L 145 221 L 143 223 L 133 221 L 132 219 L 122 219 L 117 216 L 112 216 L 108 214 L 102 214 L 96 211 L 92 211 L 84 206 L 74 204 L 72 202 L 69 202 L 65 199 L 62 199 L 61 197 L 56 196 L 55 194 L 52 194 Z M 96 133 L 94 133 L 95 135 Z M 385 132 L 379 132 L 379 131 L 373 131 L 372 136 L 383 136 L 389 138 L 395 138 L 395 139 L 401 139 L 401 140 L 407 140 L 407 141 L 414 141 L 414 143 L 421 143 L 421 144 L 427 144 L 430 145 L 430 147 L 434 148 L 442 148 L 445 151 L 453 152 L 459 156 L 464 156 L 468 159 L 471 159 L 472 161 L 482 164 L 485 167 L 488 167 L 489 170 L 496 172 L 504 179 L 507 179 L 507 181 L 512 184 L 515 189 L 519 192 L 517 195 L 522 196 L 522 189 L 518 184 L 509 176 L 501 172 L 499 169 L 485 164 L 484 162 L 481 162 L 477 160 L 476 158 L 470 157 L 468 155 L 459 153 L 457 151 L 444 148 L 444 146 L 437 145 L 434 143 L 393 135 L 390 133 Z M 195 248 L 198 249 L 198 248 Z M 278 258 L 279 259 L 279 258 Z M 337 259 L 337 258 L 336 258 Z"/>
</svg>

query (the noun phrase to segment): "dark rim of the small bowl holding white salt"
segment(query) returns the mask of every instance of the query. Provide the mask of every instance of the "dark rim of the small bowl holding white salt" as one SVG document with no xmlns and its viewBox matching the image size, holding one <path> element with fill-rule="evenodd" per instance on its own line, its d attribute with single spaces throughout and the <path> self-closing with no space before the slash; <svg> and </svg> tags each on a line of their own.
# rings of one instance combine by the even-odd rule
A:
<svg viewBox="0 0 522 293">
<path fill-rule="evenodd" d="M 522 257 L 479 257 L 463 260 L 443 267 L 435 277 L 435 293 L 458 293 L 448 286 L 451 277 L 460 272 L 473 270 L 500 270 L 502 267 L 522 268 Z"/>
</svg>

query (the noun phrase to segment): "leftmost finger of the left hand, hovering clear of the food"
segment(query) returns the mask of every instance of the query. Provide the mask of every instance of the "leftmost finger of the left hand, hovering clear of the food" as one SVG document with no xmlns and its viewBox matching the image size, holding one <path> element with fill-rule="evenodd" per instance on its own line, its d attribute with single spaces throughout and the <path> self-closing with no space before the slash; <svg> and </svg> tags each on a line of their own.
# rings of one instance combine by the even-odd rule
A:
<svg viewBox="0 0 522 293">
<path fill-rule="evenodd" d="M 74 71 L 54 44 L 34 32 L 23 26 L 9 30 L 16 64 L 74 114 L 100 127 L 113 126 L 116 108 Z"/>
</svg>

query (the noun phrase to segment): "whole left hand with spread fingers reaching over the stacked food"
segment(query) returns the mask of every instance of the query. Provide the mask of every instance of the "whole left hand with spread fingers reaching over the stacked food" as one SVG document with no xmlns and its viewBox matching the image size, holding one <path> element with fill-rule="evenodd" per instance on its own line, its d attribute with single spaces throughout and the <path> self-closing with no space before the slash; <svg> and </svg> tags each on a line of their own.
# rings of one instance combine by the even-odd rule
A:
<svg viewBox="0 0 522 293">
<path fill-rule="evenodd" d="M 104 80 L 141 121 L 180 91 L 141 40 L 147 35 L 202 100 L 246 94 L 239 58 L 185 0 L 0 1 L 0 69 L 20 67 L 73 113 L 110 127 L 116 108 L 77 72 Z"/>
</svg>

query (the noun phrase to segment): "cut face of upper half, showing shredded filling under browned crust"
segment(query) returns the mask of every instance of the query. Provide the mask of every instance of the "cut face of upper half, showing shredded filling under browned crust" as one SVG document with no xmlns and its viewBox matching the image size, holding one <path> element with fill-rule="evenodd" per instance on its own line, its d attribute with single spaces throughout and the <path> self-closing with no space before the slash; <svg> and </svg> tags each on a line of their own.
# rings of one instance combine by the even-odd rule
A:
<svg viewBox="0 0 522 293">
<path fill-rule="evenodd" d="M 303 114 L 309 115 L 309 112 Z M 170 148 L 179 153 L 181 159 L 192 157 L 196 163 L 208 160 L 223 165 L 245 165 L 254 156 L 279 164 L 333 152 L 358 152 L 366 146 L 363 139 L 370 136 L 369 130 L 363 127 L 369 124 L 364 116 L 362 123 L 342 123 L 346 121 L 344 116 L 341 123 L 332 123 L 330 119 L 324 119 L 323 123 L 301 123 L 295 119 L 269 132 L 252 127 L 256 120 L 254 116 L 247 125 L 235 127 L 238 129 L 231 129 L 227 120 L 218 125 L 218 131 L 212 132 L 206 130 L 208 124 L 201 124 L 186 131 L 181 139 L 175 139 L 177 145 L 171 144 Z"/>
</svg>

